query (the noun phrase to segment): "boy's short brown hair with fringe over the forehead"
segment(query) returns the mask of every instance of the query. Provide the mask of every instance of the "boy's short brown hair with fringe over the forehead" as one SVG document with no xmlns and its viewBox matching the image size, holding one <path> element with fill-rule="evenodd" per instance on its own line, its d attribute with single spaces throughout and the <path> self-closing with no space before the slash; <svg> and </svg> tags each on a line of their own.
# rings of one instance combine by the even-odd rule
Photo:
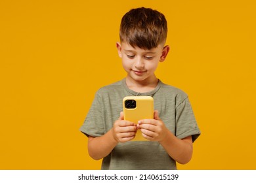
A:
<svg viewBox="0 0 256 183">
<path fill-rule="evenodd" d="M 119 37 L 121 42 L 150 50 L 165 43 L 167 21 L 161 12 L 151 8 L 131 9 L 121 19 Z"/>
</svg>

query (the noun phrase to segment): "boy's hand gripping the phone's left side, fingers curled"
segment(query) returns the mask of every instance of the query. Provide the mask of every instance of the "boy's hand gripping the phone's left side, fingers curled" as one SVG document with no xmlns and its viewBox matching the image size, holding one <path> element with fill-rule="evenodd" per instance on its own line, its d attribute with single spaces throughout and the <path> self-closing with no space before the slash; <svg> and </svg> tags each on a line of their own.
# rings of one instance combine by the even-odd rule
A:
<svg viewBox="0 0 256 183">
<path fill-rule="evenodd" d="M 137 125 L 123 120 L 123 112 L 113 126 L 113 136 L 117 142 L 131 141 L 137 133 Z"/>
</svg>

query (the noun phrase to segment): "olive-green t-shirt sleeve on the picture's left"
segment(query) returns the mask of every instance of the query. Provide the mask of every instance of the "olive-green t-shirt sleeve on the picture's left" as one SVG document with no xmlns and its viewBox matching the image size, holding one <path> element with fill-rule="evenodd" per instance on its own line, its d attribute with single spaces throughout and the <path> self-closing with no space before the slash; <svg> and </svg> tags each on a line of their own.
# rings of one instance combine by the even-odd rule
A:
<svg viewBox="0 0 256 183">
<path fill-rule="evenodd" d="M 97 92 L 93 104 L 85 118 L 85 122 L 80 127 L 80 131 L 91 137 L 100 137 L 104 135 L 104 120 L 102 111 L 102 97 Z"/>
</svg>

